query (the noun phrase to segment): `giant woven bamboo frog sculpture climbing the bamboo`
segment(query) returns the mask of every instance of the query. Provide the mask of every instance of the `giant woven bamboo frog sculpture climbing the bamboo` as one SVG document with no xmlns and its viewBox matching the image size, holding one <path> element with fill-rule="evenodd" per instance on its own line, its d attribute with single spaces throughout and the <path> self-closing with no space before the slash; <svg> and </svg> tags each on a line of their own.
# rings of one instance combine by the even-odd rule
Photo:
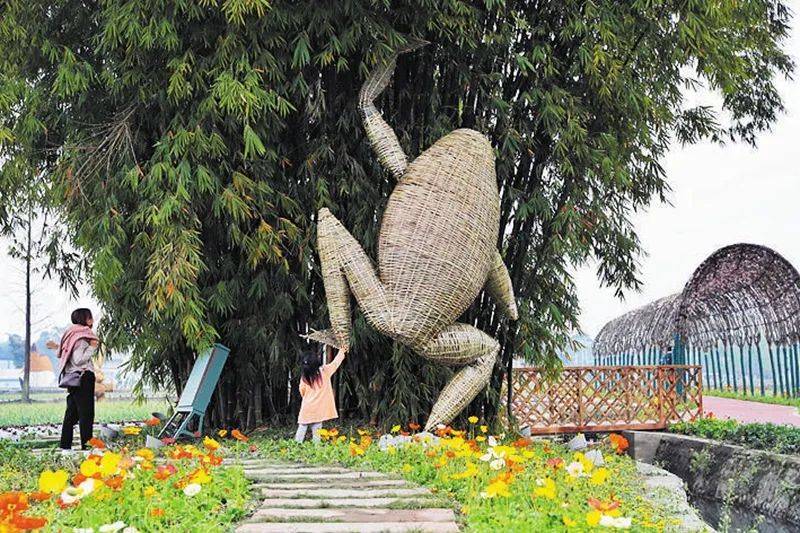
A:
<svg viewBox="0 0 800 533">
<path fill-rule="evenodd" d="M 398 180 L 381 222 L 378 272 L 341 222 L 320 210 L 317 239 L 331 329 L 309 337 L 349 346 L 352 292 L 378 331 L 422 357 L 463 366 L 433 406 L 425 426 L 431 429 L 450 422 L 488 384 L 499 351 L 494 338 L 456 319 L 484 287 L 514 320 L 517 307 L 496 247 L 500 200 L 492 147 L 477 131 L 459 129 L 408 163 L 373 103 L 395 59 L 369 75 L 359 102 L 370 143 Z"/>
</svg>

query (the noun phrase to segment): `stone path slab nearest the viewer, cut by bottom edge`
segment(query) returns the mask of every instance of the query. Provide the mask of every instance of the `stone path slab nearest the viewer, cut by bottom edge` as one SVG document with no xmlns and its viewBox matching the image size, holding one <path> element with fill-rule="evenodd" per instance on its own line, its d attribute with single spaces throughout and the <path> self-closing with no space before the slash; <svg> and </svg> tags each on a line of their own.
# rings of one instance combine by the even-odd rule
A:
<svg viewBox="0 0 800 533">
<path fill-rule="evenodd" d="M 400 531 L 425 531 L 449 533 L 458 531 L 453 522 L 380 522 L 345 524 L 340 522 L 266 522 L 242 524 L 237 533 L 340 533 L 357 531 L 359 533 L 384 533 Z"/>
</svg>

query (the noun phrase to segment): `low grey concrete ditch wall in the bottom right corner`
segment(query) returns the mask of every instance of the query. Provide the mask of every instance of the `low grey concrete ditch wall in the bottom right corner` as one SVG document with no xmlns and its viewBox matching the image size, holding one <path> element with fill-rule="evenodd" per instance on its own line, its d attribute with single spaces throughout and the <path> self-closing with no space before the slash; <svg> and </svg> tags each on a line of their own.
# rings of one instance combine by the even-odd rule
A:
<svg viewBox="0 0 800 533">
<path fill-rule="evenodd" d="M 623 435 L 634 459 L 677 475 L 691 494 L 744 507 L 800 530 L 800 457 L 671 433 Z"/>
</svg>

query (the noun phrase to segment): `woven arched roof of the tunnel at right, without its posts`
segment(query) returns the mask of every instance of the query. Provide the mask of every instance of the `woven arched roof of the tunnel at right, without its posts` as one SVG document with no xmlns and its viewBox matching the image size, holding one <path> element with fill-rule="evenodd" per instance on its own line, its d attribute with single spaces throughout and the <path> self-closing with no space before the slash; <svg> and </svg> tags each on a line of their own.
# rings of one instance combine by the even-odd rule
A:
<svg viewBox="0 0 800 533">
<path fill-rule="evenodd" d="M 682 292 L 607 323 L 595 339 L 599 357 L 668 350 L 675 335 L 708 350 L 718 342 L 749 345 L 800 341 L 800 274 L 777 252 L 735 244 L 714 252 Z"/>
</svg>

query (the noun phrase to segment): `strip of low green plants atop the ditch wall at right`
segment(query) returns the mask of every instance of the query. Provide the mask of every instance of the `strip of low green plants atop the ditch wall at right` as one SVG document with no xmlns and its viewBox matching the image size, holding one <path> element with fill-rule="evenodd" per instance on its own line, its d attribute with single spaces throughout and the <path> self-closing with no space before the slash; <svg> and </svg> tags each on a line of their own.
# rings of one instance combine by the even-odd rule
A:
<svg viewBox="0 0 800 533">
<path fill-rule="evenodd" d="M 706 418 L 679 422 L 670 431 L 738 444 L 775 453 L 800 453 L 800 428 L 778 424 L 740 424 L 735 420 Z"/>
</svg>

